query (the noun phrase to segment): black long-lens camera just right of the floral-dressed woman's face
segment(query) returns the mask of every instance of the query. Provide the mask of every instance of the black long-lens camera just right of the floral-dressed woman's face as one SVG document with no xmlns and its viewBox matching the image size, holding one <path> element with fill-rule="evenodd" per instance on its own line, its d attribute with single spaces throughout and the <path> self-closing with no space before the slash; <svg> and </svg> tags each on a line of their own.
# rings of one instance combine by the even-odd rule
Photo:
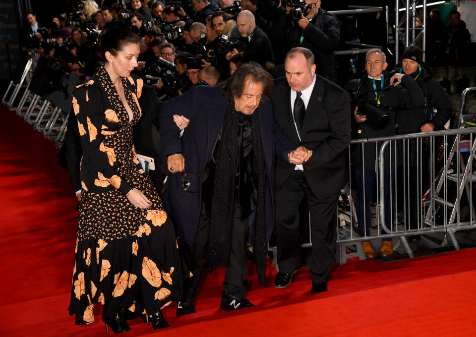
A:
<svg viewBox="0 0 476 337">
<path fill-rule="evenodd" d="M 177 65 L 159 57 L 157 63 L 153 64 L 145 75 L 145 84 L 156 84 L 160 81 L 163 83 L 163 95 L 160 99 L 167 100 L 177 97 L 187 89 L 187 85 L 176 77 Z"/>
</svg>

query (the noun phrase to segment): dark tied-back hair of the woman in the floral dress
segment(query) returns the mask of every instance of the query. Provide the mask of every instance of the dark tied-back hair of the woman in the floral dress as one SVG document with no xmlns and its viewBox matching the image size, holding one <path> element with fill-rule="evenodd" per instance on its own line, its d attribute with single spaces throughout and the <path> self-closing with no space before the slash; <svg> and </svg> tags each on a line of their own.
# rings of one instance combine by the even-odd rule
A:
<svg viewBox="0 0 476 337">
<path fill-rule="evenodd" d="M 99 35 L 98 41 L 98 57 L 100 62 L 106 61 L 105 53 L 109 52 L 113 56 L 129 44 L 138 44 L 139 37 L 129 30 L 123 28 L 111 28 Z"/>
</svg>

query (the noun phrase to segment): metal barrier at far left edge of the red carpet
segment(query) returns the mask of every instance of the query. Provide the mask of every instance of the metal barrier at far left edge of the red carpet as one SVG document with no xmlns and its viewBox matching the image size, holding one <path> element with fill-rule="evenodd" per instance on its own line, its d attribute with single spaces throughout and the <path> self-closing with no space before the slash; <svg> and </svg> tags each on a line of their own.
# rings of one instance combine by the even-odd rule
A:
<svg viewBox="0 0 476 337">
<path fill-rule="evenodd" d="M 36 71 L 42 67 L 38 65 L 39 60 L 37 54 L 27 60 L 21 77 L 17 79 L 18 83 L 10 81 L 1 102 L 60 147 L 69 113 L 55 104 L 52 97 L 41 92 L 41 81 L 37 83 L 38 76 L 35 77 Z"/>
</svg>

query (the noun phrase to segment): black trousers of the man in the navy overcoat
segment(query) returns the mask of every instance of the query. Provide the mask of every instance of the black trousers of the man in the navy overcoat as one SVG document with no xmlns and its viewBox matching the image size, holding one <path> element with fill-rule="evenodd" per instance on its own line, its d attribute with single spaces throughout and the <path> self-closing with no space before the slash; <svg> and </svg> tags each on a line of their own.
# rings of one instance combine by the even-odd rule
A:
<svg viewBox="0 0 476 337">
<path fill-rule="evenodd" d="M 200 282 L 200 276 L 208 253 L 210 224 L 210 212 L 207 210 L 206 205 L 202 204 L 200 221 L 193 245 L 182 244 L 185 260 L 193 273 L 191 278 L 185 280 L 184 294 L 186 298 L 195 296 Z M 235 203 L 230 263 L 226 267 L 225 281 L 223 282 L 227 295 L 244 295 L 246 292 L 247 233 L 248 217 L 242 219 L 241 209 Z"/>
</svg>

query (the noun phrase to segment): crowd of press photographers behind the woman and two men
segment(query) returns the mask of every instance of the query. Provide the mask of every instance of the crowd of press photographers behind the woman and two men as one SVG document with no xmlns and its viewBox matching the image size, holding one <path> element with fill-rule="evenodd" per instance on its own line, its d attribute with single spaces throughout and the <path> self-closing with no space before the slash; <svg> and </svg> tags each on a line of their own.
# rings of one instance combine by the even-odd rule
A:
<svg viewBox="0 0 476 337">
<path fill-rule="evenodd" d="M 296 46 L 310 49 L 317 73 L 335 81 L 337 18 L 323 11 L 320 1 L 266 1 L 261 10 L 257 1 L 78 1 L 77 11 L 54 15 L 49 24 L 27 13 L 21 44 L 30 55 L 58 60 L 66 73 L 74 71 L 84 81 L 95 72 L 100 33 L 131 30 L 141 37 L 135 72 L 156 87 L 161 100 L 192 85 L 214 85 L 248 61 L 284 76 L 284 57 Z"/>
</svg>

